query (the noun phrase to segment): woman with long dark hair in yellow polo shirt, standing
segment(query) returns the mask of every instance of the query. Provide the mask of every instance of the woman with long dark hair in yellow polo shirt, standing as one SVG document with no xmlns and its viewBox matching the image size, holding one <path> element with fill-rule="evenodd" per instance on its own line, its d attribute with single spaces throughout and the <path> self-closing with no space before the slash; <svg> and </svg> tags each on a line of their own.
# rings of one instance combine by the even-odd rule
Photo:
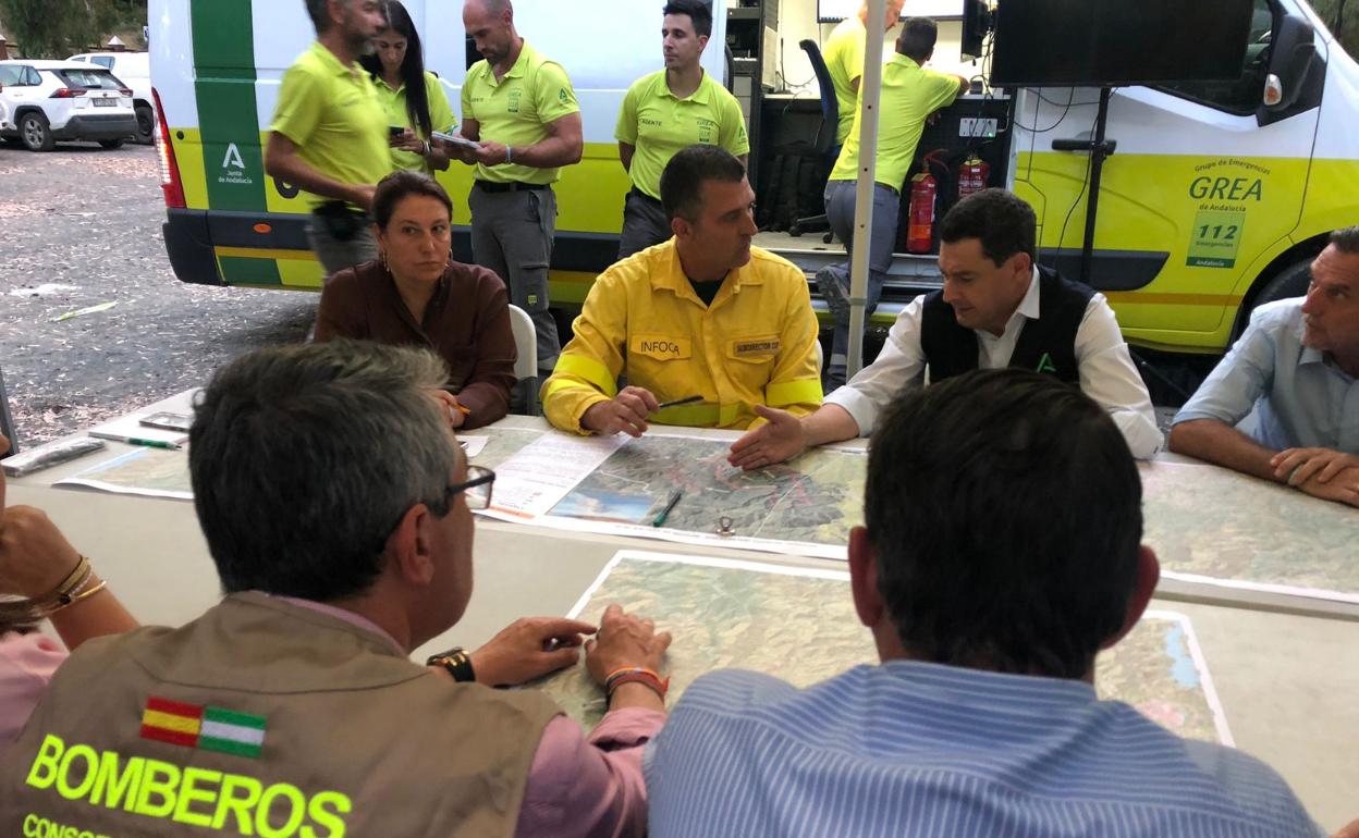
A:
<svg viewBox="0 0 1359 838">
<path fill-rule="evenodd" d="M 387 130 L 405 129 L 389 139 L 391 164 L 432 175 L 448 168 L 448 155 L 431 143 L 431 134 L 453 130 L 457 120 L 439 77 L 424 68 L 420 33 L 405 4 L 382 0 L 381 11 L 383 30 L 372 39 L 372 54 L 359 58 L 359 64 L 378 88 Z"/>
</svg>

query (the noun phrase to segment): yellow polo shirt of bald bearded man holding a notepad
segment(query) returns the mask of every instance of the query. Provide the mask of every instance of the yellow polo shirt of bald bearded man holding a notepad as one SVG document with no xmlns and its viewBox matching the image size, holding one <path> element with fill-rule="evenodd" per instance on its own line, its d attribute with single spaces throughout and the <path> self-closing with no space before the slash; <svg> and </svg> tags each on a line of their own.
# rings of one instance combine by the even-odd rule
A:
<svg viewBox="0 0 1359 838">
<path fill-rule="evenodd" d="M 575 113 L 580 113 L 580 106 L 567 71 L 534 52 L 527 41 L 503 79 L 496 81 L 495 71 L 482 58 L 472 65 L 462 84 L 462 120 L 476 120 L 482 140 L 534 145 L 548 139 L 549 122 Z M 560 175 L 560 168 L 478 163 L 476 178 L 495 183 L 553 183 Z"/>
</svg>

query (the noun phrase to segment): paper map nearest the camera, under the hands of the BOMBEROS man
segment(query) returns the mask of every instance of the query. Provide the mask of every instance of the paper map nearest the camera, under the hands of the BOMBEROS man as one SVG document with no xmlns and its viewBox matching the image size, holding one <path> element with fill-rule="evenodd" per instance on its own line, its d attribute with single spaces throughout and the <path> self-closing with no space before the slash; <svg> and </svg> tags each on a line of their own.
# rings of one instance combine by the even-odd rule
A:
<svg viewBox="0 0 1359 838">
<path fill-rule="evenodd" d="M 872 637 L 855 614 L 848 575 L 839 570 L 626 550 L 605 566 L 569 617 L 595 621 L 612 603 L 655 619 L 674 636 L 666 659 L 671 706 L 711 670 L 754 670 L 805 687 L 877 660 Z M 603 714 L 602 690 L 583 663 L 541 689 L 586 727 Z M 1184 615 L 1148 611 L 1099 656 L 1095 689 L 1101 698 L 1125 701 L 1181 736 L 1231 744 Z"/>
</svg>

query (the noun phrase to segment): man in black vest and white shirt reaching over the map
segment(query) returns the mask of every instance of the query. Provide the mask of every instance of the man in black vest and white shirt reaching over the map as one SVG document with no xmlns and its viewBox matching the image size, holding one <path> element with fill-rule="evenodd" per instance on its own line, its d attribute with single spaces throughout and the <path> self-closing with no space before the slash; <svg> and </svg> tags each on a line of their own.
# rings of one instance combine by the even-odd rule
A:
<svg viewBox="0 0 1359 838">
<path fill-rule="evenodd" d="M 1151 397 L 1104 295 L 1036 262 L 1037 219 L 1021 198 L 984 189 L 939 225 L 943 289 L 897 315 L 882 353 L 800 420 L 756 406 L 768 424 L 731 445 L 731 464 L 760 469 L 821 445 L 872 433 L 913 384 L 983 368 L 1048 372 L 1079 386 L 1113 417 L 1139 459 L 1161 448 Z"/>
</svg>

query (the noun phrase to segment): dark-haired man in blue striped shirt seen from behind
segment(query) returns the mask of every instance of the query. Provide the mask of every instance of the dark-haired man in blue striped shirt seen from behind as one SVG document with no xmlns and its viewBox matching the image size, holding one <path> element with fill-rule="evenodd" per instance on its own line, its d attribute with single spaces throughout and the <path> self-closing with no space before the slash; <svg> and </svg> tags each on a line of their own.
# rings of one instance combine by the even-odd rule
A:
<svg viewBox="0 0 1359 838">
<path fill-rule="evenodd" d="M 849 541 L 881 666 L 694 682 L 647 755 L 652 837 L 1296 837 L 1287 784 L 1101 701 L 1159 566 L 1108 413 L 1015 369 L 912 390 Z"/>
</svg>

